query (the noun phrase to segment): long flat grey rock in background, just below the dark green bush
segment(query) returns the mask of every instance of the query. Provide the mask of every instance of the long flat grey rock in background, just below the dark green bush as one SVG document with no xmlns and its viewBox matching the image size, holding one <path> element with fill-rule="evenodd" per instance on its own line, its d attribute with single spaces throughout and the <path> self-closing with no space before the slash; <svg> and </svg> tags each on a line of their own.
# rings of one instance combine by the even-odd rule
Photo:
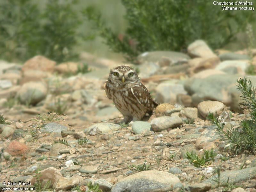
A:
<svg viewBox="0 0 256 192">
<path fill-rule="evenodd" d="M 183 63 L 188 61 L 190 58 L 188 55 L 180 52 L 173 51 L 153 51 L 153 52 L 144 52 L 138 57 L 140 63 L 144 62 L 162 62 L 167 60 L 170 64 Z"/>
</svg>

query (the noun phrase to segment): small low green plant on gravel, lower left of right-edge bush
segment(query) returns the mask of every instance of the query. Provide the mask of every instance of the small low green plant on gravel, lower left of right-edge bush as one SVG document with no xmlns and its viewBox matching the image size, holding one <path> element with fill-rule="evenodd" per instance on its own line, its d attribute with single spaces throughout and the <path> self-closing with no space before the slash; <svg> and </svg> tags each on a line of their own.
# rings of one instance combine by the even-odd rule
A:
<svg viewBox="0 0 256 192">
<path fill-rule="evenodd" d="M 211 149 L 210 151 L 204 150 L 204 155 L 202 157 L 189 152 L 187 152 L 186 155 L 190 164 L 194 164 L 195 167 L 201 167 L 211 164 L 211 161 L 214 162 L 214 158 L 217 154 L 213 151 L 213 149 Z"/>
</svg>

